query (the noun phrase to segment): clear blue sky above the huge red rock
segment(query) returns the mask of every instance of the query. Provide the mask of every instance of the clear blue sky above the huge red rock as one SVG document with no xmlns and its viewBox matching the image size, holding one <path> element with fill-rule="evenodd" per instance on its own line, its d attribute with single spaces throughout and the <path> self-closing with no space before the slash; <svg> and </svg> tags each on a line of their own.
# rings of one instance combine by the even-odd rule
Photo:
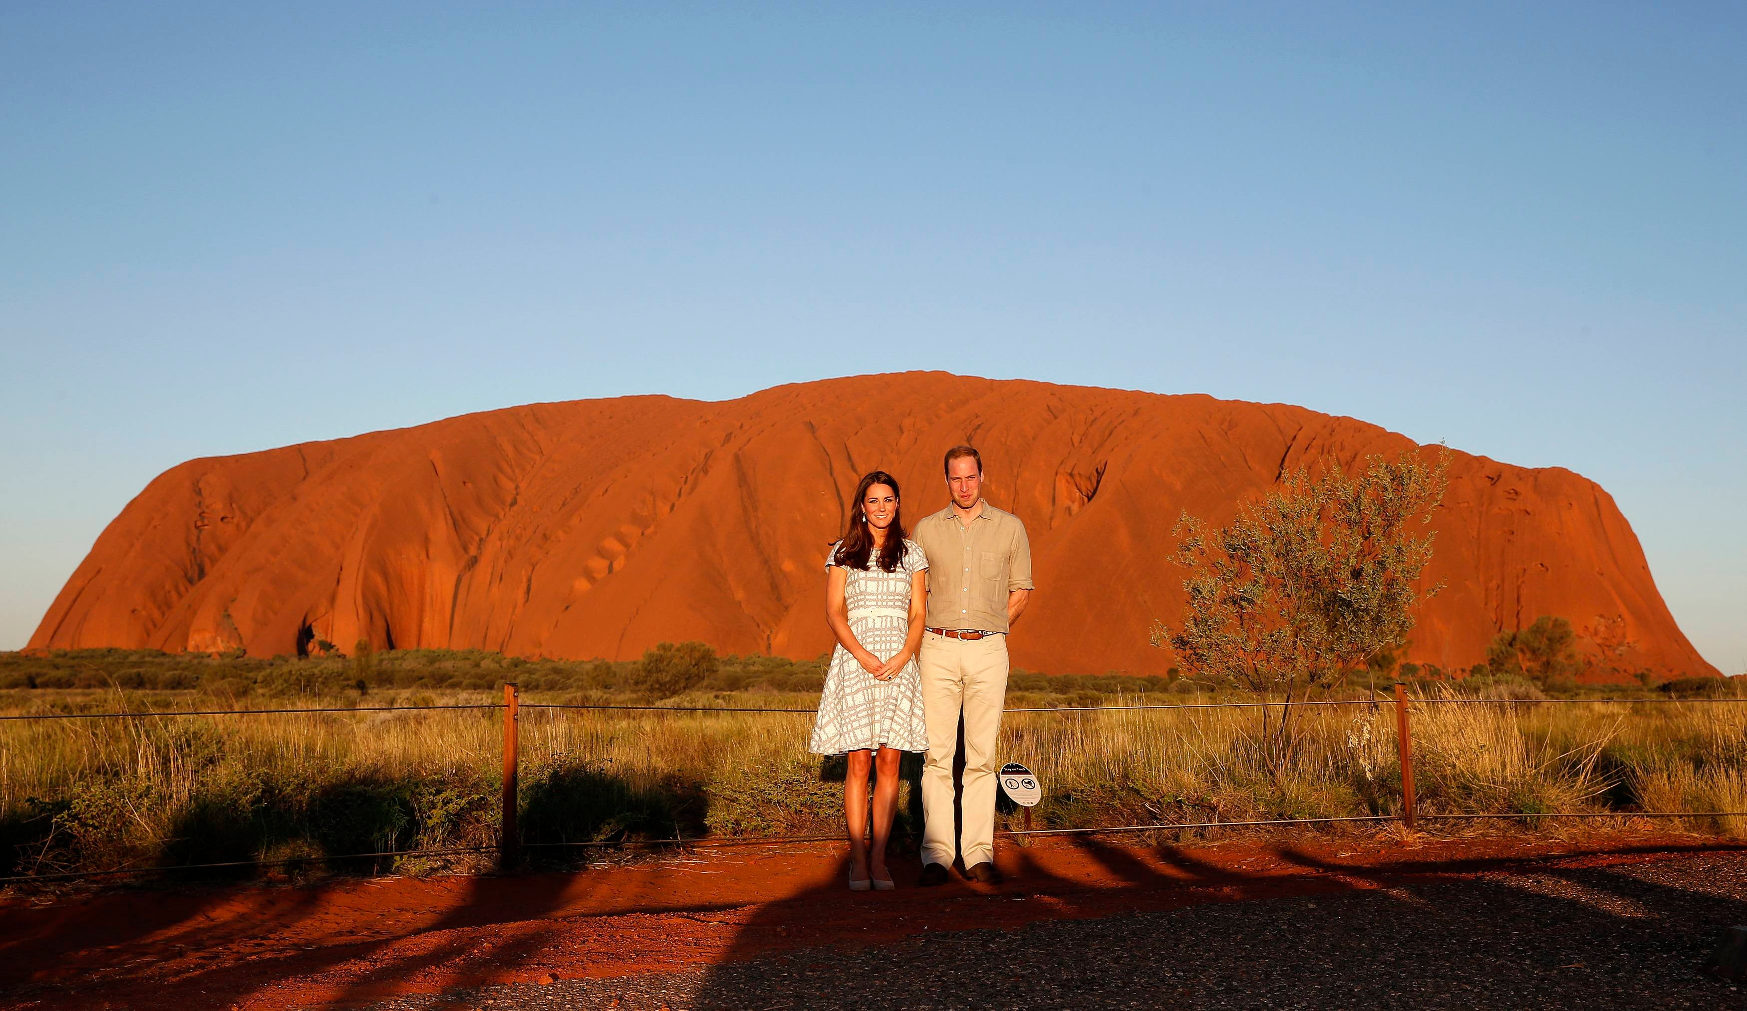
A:
<svg viewBox="0 0 1747 1011">
<path fill-rule="evenodd" d="M 1747 671 L 1747 7 L 0 7 L 0 648 L 194 456 L 926 367 L 1569 466 Z"/>
</svg>

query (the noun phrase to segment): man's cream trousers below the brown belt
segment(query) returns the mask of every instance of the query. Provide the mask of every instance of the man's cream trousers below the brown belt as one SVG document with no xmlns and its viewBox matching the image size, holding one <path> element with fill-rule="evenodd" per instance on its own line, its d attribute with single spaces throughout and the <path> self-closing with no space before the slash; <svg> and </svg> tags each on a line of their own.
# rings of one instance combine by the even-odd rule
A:
<svg viewBox="0 0 1747 1011">
<path fill-rule="evenodd" d="M 964 800 L 957 854 L 971 868 L 994 859 L 994 760 L 1006 705 L 1006 636 L 966 643 L 922 632 L 922 714 L 928 763 L 922 767 L 922 863 L 952 866 L 952 758 L 964 714 Z"/>
</svg>

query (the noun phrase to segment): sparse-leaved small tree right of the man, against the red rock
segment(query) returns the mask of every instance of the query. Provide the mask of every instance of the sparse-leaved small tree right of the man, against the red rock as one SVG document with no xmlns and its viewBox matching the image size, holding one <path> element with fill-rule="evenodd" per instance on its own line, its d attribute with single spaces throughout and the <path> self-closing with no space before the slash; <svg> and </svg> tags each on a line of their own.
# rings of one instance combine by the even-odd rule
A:
<svg viewBox="0 0 1747 1011">
<path fill-rule="evenodd" d="M 1373 456 L 1357 477 L 1331 463 L 1300 468 L 1228 527 L 1177 522 L 1188 604 L 1179 625 L 1155 622 L 1153 644 L 1176 650 L 1191 676 L 1284 695 L 1279 719 L 1263 709 L 1275 768 L 1296 744 L 1291 704 L 1406 643 L 1419 602 L 1441 588 L 1415 583 L 1448 466 L 1445 450 L 1429 464 L 1417 452 Z"/>
</svg>

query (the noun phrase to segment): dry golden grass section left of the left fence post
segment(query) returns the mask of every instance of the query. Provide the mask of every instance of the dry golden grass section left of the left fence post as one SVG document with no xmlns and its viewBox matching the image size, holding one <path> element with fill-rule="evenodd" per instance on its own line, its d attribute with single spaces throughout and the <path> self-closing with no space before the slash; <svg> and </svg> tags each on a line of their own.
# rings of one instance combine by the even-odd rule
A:
<svg viewBox="0 0 1747 1011">
<path fill-rule="evenodd" d="M 9 721 L 0 843 L 12 873 L 487 845 L 500 742 L 491 711 Z"/>
</svg>

